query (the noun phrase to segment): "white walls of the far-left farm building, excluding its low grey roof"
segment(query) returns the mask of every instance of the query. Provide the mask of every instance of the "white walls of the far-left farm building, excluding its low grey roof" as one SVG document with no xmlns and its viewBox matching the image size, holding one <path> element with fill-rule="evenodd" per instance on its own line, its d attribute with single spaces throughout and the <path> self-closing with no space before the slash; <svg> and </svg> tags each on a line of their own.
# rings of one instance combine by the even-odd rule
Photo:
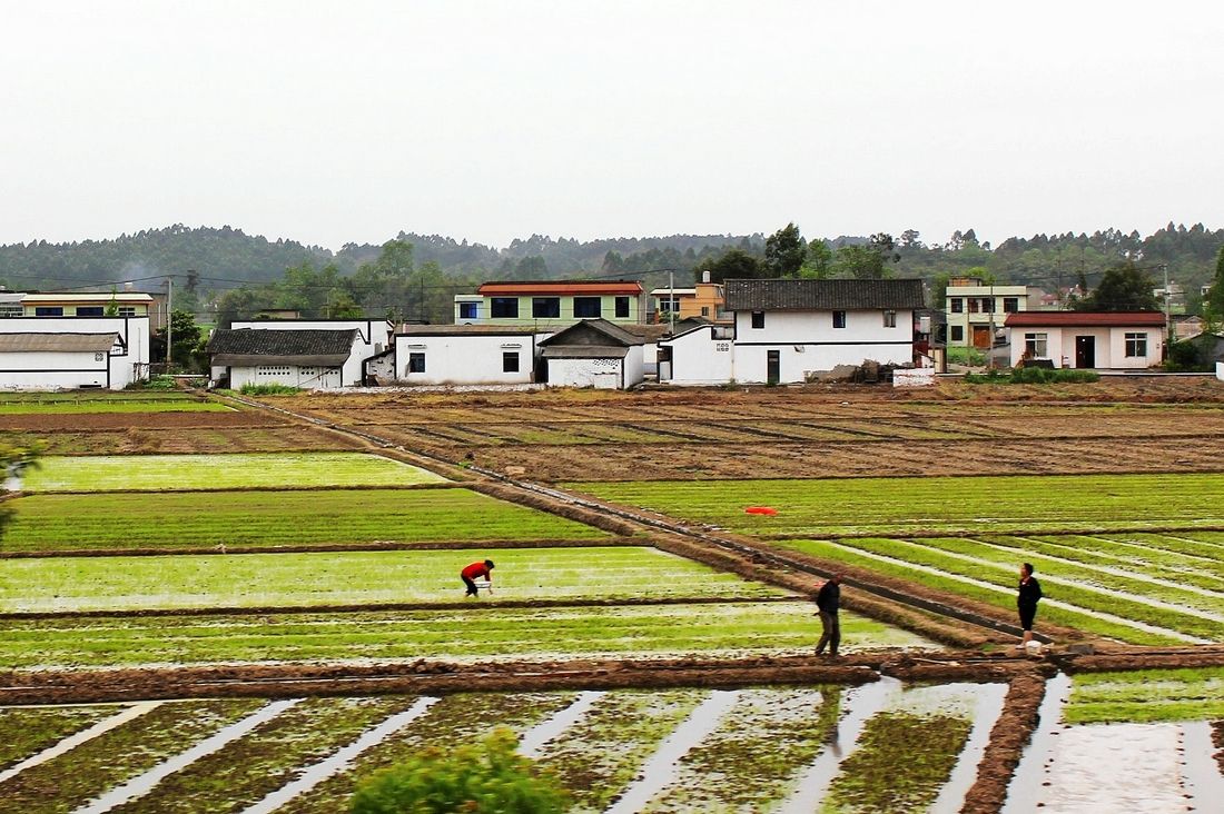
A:
<svg viewBox="0 0 1224 814">
<path fill-rule="evenodd" d="M 149 318 L 148 317 L 13 317 L 0 321 L 4 333 L 116 333 L 126 348 L 114 348 L 104 361 L 89 354 L 4 354 L 0 388 L 71 389 L 76 387 L 109 387 L 121 390 L 132 382 L 148 378 Z M 38 357 L 26 359 L 21 357 Z M 33 370 L 48 372 L 35 373 Z M 70 371 L 83 370 L 73 373 Z M 98 373 L 100 371 L 100 379 Z M 24 372 L 29 371 L 29 372 Z"/>
</svg>

